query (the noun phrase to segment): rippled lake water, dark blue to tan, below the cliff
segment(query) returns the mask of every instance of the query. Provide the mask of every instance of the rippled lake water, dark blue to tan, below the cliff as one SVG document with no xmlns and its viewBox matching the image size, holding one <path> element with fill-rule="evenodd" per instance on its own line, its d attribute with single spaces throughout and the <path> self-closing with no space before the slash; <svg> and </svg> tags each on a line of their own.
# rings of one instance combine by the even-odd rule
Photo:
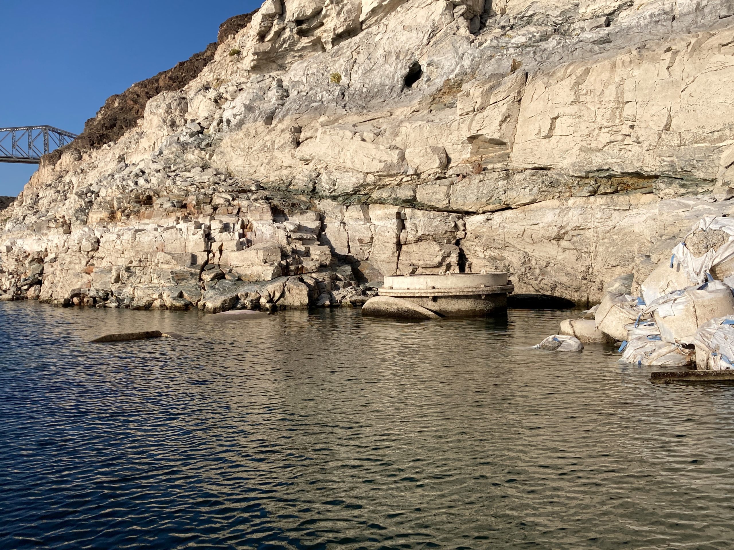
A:
<svg viewBox="0 0 734 550">
<path fill-rule="evenodd" d="M 0 548 L 731 548 L 734 386 L 530 349 L 568 316 L 0 304 Z"/>
</svg>

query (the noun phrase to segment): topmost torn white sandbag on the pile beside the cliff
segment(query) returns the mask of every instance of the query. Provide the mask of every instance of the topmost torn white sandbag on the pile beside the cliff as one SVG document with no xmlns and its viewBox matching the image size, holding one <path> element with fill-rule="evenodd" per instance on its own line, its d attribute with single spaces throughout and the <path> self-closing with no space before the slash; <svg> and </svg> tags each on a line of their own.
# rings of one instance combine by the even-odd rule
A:
<svg viewBox="0 0 734 550">
<path fill-rule="evenodd" d="M 695 255 L 686 245 L 691 238 L 698 238 L 700 232 L 724 232 L 727 238 L 720 244 L 716 244 L 707 252 Z M 712 243 L 714 244 L 714 243 Z M 686 271 L 688 279 L 694 284 L 700 284 L 711 275 L 715 279 L 724 279 L 725 276 L 734 273 L 734 219 L 719 216 L 705 216 L 694 225 L 691 232 L 686 235 L 683 242 L 678 244 L 672 251 L 671 263 L 680 263 Z"/>
</svg>

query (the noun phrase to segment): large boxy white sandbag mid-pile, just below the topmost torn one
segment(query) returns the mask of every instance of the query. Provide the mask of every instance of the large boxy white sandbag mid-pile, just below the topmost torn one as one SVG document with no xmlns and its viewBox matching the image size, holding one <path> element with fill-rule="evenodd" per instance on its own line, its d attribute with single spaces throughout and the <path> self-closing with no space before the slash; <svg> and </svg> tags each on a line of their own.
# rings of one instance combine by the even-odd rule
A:
<svg viewBox="0 0 734 550">
<path fill-rule="evenodd" d="M 675 290 L 653 301 L 645 309 L 652 313 L 662 339 L 675 344 L 692 344 L 704 323 L 734 315 L 734 296 L 721 281 Z"/>
</svg>

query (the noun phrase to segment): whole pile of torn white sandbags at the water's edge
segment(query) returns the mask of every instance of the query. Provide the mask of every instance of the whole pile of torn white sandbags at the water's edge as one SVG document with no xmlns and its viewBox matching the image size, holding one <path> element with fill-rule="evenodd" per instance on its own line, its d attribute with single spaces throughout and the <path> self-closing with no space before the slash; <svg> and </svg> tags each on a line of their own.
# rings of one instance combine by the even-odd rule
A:
<svg viewBox="0 0 734 550">
<path fill-rule="evenodd" d="M 625 340 L 624 362 L 680 367 L 693 360 L 695 344 L 699 368 L 723 368 L 734 351 L 727 355 L 719 340 L 734 339 L 734 328 L 716 321 L 734 318 L 733 285 L 734 219 L 706 216 L 644 280 L 642 298 L 605 296 L 596 326 Z"/>
</svg>

